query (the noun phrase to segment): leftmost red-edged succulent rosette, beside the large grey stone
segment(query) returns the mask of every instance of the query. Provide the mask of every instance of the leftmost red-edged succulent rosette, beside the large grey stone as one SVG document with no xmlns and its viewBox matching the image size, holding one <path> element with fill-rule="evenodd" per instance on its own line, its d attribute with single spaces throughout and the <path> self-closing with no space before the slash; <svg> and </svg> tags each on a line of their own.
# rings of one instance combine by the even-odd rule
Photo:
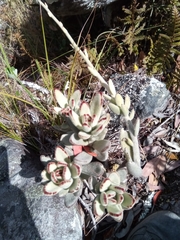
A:
<svg viewBox="0 0 180 240">
<path fill-rule="evenodd" d="M 45 195 L 59 194 L 60 197 L 67 193 L 75 193 L 81 188 L 81 166 L 71 161 L 70 156 L 62 147 L 55 150 L 55 158 L 41 156 L 41 161 L 46 163 L 46 169 L 41 176 L 45 183 Z"/>
</svg>

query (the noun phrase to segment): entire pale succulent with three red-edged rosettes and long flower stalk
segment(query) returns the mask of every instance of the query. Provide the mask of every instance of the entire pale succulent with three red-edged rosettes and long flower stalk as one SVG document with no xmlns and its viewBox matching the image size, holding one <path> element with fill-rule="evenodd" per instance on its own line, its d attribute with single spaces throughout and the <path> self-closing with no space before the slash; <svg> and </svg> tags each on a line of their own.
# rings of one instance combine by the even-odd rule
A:
<svg viewBox="0 0 180 240">
<path fill-rule="evenodd" d="M 125 99 L 116 92 L 110 79 L 108 83 L 99 74 L 89 60 L 86 51 L 82 52 L 76 45 L 67 30 L 47 5 L 39 1 L 48 14 L 57 22 L 66 33 L 75 51 L 84 59 L 92 75 L 94 75 L 106 89 L 107 93 L 94 92 L 90 101 L 82 98 L 81 91 L 76 90 L 68 97 L 59 89 L 55 89 L 54 96 L 58 107 L 54 111 L 63 123 L 58 126 L 62 134 L 59 146 L 56 147 L 55 157 L 41 156 L 46 164 L 42 172 L 45 195 L 64 196 L 66 206 L 77 202 L 83 189 L 84 180 L 91 182 L 91 191 L 94 195 L 93 213 L 101 218 L 105 213 L 116 221 L 121 221 L 123 211 L 135 204 L 134 197 L 127 192 L 125 179 L 129 172 L 134 177 L 141 176 L 140 154 L 138 146 L 139 119 L 134 121 L 134 110 L 130 110 L 131 101 L 128 95 Z M 126 129 L 120 131 L 120 142 L 127 160 L 126 168 L 120 168 L 116 173 L 105 172 L 103 163 L 108 160 L 108 150 L 111 142 L 105 139 L 110 114 L 109 106 L 115 114 L 124 119 Z M 124 171 L 126 172 L 125 177 Z M 125 179 L 124 179 L 125 178 Z"/>
</svg>

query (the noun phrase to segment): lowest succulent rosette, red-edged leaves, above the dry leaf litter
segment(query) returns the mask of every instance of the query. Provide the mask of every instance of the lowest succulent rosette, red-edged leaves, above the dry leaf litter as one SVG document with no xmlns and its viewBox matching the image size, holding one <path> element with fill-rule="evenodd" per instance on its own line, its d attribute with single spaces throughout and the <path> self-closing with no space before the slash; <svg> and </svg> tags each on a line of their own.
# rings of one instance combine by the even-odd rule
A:
<svg viewBox="0 0 180 240">
<path fill-rule="evenodd" d="M 133 196 L 121 186 L 120 177 L 111 173 L 102 182 L 95 185 L 97 196 L 93 202 L 93 212 L 101 218 L 105 212 L 117 222 L 122 221 L 123 211 L 131 209 L 135 204 Z"/>
</svg>

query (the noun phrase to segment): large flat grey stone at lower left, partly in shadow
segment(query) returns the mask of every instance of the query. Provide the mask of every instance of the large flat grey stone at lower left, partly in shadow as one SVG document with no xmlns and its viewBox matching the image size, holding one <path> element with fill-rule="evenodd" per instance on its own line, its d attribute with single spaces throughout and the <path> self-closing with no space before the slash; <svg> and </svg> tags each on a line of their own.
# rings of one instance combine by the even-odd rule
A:
<svg viewBox="0 0 180 240">
<path fill-rule="evenodd" d="M 0 141 L 0 239 L 81 240 L 77 209 L 42 195 L 39 157 L 11 139 Z"/>
</svg>

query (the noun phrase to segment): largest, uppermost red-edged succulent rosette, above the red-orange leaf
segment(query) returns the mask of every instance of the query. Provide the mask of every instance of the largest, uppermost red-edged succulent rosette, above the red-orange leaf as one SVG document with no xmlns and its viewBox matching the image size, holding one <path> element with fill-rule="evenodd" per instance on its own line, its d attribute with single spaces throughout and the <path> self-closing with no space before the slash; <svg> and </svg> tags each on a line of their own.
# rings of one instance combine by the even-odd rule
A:
<svg viewBox="0 0 180 240">
<path fill-rule="evenodd" d="M 56 113 L 65 116 L 73 131 L 69 138 L 71 144 L 87 146 L 105 138 L 110 115 L 104 113 L 101 93 L 95 93 L 90 103 L 80 100 L 79 90 L 72 94 L 69 101 L 57 89 L 55 97 L 60 105 L 60 108 L 55 107 Z"/>
</svg>

